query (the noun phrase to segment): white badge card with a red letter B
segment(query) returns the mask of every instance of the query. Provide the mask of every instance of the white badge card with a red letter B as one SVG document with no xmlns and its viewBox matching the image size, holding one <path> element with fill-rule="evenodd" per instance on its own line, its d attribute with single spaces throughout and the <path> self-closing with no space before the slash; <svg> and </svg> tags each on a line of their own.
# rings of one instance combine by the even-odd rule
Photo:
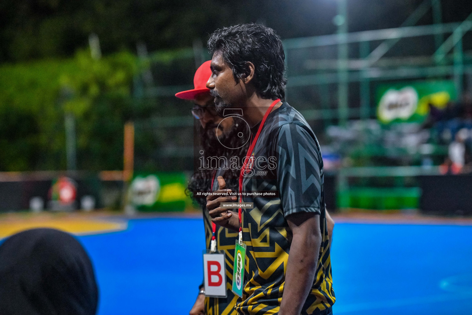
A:
<svg viewBox="0 0 472 315">
<path fill-rule="evenodd" d="M 205 277 L 205 296 L 226 298 L 226 265 L 224 253 L 203 253 L 203 275 Z"/>
</svg>

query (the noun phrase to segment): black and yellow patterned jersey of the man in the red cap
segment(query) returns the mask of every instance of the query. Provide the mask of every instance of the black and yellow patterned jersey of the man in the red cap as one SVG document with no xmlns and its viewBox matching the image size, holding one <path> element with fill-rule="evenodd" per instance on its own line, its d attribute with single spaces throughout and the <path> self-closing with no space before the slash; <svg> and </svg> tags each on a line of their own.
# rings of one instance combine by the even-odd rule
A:
<svg viewBox="0 0 472 315">
<path fill-rule="evenodd" d="M 219 170 L 220 172 L 220 170 Z M 218 181 L 216 178 L 221 175 L 217 173 L 213 182 L 213 188 L 218 189 Z M 213 189 L 213 190 L 216 190 Z M 211 230 L 211 217 L 208 214 L 208 210 L 203 207 L 203 222 L 205 224 L 205 242 L 206 248 L 210 249 L 211 236 L 213 234 Z M 216 226 L 216 248 L 225 252 L 226 260 L 226 298 L 205 298 L 205 312 L 206 315 L 237 315 L 235 305 L 237 296 L 231 291 L 233 284 L 233 265 L 234 265 L 234 252 L 236 239 L 238 233 L 227 228 L 223 228 L 219 225 Z"/>
</svg>

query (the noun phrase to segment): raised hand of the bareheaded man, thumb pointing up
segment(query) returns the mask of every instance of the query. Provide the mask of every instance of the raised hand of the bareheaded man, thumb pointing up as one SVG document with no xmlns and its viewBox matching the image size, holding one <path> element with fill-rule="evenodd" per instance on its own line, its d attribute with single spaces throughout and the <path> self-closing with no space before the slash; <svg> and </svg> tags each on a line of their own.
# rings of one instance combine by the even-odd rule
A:
<svg viewBox="0 0 472 315">
<path fill-rule="evenodd" d="M 228 211 L 228 209 L 222 209 L 220 207 L 222 202 L 234 202 L 237 200 L 236 196 L 224 196 L 230 192 L 231 189 L 226 189 L 226 182 L 223 177 L 218 176 L 218 190 L 207 196 L 206 207 L 213 223 L 228 229 L 238 230 L 239 221 L 237 215 L 234 215 L 234 213 Z"/>
</svg>

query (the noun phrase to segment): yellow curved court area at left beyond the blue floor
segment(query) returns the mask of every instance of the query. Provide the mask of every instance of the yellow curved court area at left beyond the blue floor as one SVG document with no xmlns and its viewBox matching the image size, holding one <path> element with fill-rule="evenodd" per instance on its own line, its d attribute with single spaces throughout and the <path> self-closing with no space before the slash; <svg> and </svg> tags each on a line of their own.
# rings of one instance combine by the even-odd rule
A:
<svg viewBox="0 0 472 315">
<path fill-rule="evenodd" d="M 126 222 L 101 221 L 80 218 L 62 218 L 44 221 L 0 221 L 0 238 L 5 238 L 15 233 L 35 228 L 51 228 L 63 230 L 76 235 L 89 235 L 126 230 L 127 224 Z"/>
</svg>

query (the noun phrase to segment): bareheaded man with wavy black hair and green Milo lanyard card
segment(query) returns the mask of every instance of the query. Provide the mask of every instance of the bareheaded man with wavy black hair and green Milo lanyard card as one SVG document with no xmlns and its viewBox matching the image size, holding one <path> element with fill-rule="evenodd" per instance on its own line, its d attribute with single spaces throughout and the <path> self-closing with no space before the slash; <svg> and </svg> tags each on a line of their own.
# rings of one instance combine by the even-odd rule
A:
<svg viewBox="0 0 472 315">
<path fill-rule="evenodd" d="M 240 314 L 332 314 L 330 241 L 320 145 L 303 116 L 287 102 L 282 42 L 269 27 L 245 24 L 216 30 L 208 41 L 206 86 L 216 112 L 241 109 L 252 128 L 235 202 L 224 177 L 207 197 L 212 221 L 238 231 L 247 246 Z M 233 190 L 233 189 L 230 189 Z M 254 190 L 270 191 L 253 196 Z M 243 194 L 245 194 L 243 196 Z M 239 214 L 239 215 L 238 215 Z M 239 217 L 239 218 L 238 218 Z"/>
</svg>

